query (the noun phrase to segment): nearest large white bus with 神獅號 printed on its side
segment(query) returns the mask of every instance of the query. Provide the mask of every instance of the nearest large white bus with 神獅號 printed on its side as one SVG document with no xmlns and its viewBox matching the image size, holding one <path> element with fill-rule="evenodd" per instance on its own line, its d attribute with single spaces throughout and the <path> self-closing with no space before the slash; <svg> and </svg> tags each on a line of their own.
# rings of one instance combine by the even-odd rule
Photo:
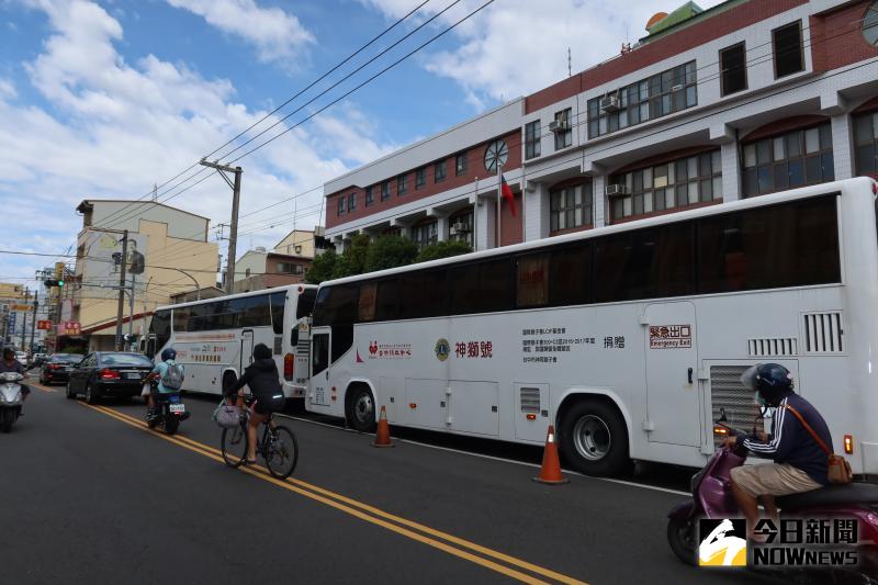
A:
<svg viewBox="0 0 878 585">
<path fill-rule="evenodd" d="M 878 473 L 876 183 L 859 178 L 323 283 L 306 409 L 698 466 L 778 362 Z M 847 439 L 847 440 L 846 440 Z M 845 447 L 849 445 L 849 449 Z"/>
</svg>

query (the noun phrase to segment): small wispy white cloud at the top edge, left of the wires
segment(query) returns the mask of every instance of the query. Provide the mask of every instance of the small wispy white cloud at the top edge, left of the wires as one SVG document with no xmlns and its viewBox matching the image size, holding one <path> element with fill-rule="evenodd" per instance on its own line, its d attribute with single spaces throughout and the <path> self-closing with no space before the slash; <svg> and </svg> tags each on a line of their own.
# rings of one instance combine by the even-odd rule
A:
<svg viewBox="0 0 878 585">
<path fill-rule="evenodd" d="M 280 8 L 260 8 L 254 0 L 167 0 L 175 8 L 204 18 L 223 32 L 240 36 L 255 45 L 262 61 L 283 61 L 314 43 L 314 35 L 299 19 Z"/>
</svg>

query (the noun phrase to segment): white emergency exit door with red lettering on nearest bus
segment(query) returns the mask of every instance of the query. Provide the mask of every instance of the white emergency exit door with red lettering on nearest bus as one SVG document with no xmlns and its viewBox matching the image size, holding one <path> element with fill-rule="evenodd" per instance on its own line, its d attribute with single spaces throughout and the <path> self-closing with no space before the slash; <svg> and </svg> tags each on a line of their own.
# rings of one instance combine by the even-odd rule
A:
<svg viewBox="0 0 878 585">
<path fill-rule="evenodd" d="M 644 313 L 651 442 L 701 445 L 695 305 L 655 303 Z"/>
</svg>

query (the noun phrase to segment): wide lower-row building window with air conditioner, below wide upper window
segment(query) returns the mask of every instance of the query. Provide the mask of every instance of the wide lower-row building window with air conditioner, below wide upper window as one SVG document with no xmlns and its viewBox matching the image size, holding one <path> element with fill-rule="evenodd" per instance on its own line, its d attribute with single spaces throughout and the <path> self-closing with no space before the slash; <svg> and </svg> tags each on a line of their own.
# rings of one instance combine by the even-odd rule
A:
<svg viewBox="0 0 878 585">
<path fill-rule="evenodd" d="M 719 150 L 610 177 L 614 220 L 722 199 Z"/>
</svg>

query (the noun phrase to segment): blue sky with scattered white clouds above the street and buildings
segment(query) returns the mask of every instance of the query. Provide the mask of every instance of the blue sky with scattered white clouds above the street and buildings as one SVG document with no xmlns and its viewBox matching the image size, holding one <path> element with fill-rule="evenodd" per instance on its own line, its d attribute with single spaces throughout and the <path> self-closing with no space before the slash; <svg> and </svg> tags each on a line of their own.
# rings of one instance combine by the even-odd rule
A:
<svg viewBox="0 0 878 585">
<path fill-rule="evenodd" d="M 74 212 L 81 199 L 144 195 L 419 3 L 0 0 L 0 201 L 7 221 L 25 226 L 0 248 L 63 254 L 81 228 Z M 320 89 L 452 3 L 402 47 L 274 132 L 482 1 L 430 0 Z M 241 213 L 563 78 L 567 47 L 574 70 L 604 60 L 607 47 L 635 41 L 651 14 L 673 8 L 664 0 L 495 0 L 398 68 L 241 160 Z M 296 100 L 281 115 L 303 103 Z M 228 188 L 213 178 L 168 203 L 216 224 L 228 221 L 229 200 Z M 322 223 L 320 200 L 319 192 L 297 200 L 305 210 L 295 215 L 299 227 Z M 271 246 L 292 228 L 293 204 L 280 209 L 286 211 L 248 217 L 250 233 L 239 252 Z M 53 260 L 0 254 L 0 281 L 32 277 Z"/>
</svg>

